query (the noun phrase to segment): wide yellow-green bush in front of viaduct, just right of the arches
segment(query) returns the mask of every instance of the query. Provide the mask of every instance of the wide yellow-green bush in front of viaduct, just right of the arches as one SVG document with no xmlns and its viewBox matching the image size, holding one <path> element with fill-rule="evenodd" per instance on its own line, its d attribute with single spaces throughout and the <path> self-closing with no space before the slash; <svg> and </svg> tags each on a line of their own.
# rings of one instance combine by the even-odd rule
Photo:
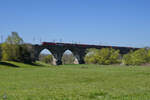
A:
<svg viewBox="0 0 150 100">
<path fill-rule="evenodd" d="M 119 63 L 119 50 L 103 48 L 101 50 L 98 49 L 89 49 L 87 55 L 85 56 L 86 63 L 92 64 L 116 64 Z"/>
</svg>

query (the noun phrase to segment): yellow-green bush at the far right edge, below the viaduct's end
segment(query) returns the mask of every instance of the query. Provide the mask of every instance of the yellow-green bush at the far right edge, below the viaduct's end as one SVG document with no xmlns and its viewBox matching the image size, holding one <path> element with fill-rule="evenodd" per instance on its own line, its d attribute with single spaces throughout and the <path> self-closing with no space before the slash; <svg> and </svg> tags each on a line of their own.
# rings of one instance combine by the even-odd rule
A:
<svg viewBox="0 0 150 100">
<path fill-rule="evenodd" d="M 141 65 L 149 63 L 150 61 L 150 50 L 145 48 L 130 51 L 130 53 L 123 56 L 123 64 L 125 65 Z"/>
</svg>

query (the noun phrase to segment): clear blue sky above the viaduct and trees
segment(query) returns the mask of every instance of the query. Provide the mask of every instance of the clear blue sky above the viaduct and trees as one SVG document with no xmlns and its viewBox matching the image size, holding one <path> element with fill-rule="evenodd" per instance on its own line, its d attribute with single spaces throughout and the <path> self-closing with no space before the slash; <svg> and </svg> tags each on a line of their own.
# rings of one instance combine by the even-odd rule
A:
<svg viewBox="0 0 150 100">
<path fill-rule="evenodd" d="M 150 0 L 0 0 L 0 42 L 150 46 Z"/>
</svg>

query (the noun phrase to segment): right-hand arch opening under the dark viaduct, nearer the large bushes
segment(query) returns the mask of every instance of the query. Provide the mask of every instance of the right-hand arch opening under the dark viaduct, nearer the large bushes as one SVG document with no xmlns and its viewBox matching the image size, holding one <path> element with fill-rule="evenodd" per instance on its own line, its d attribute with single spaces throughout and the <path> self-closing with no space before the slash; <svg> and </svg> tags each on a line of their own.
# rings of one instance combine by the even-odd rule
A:
<svg viewBox="0 0 150 100">
<path fill-rule="evenodd" d="M 62 64 L 79 64 L 79 62 L 71 50 L 66 50 L 62 56 Z"/>
</svg>

